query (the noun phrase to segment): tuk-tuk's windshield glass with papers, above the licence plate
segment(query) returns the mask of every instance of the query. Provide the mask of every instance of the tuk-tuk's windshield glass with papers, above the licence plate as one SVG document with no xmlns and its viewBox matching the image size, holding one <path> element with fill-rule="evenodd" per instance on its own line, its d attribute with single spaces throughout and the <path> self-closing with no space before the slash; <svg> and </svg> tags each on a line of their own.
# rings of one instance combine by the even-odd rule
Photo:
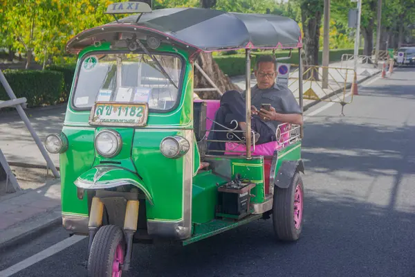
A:
<svg viewBox="0 0 415 277">
<path fill-rule="evenodd" d="M 79 69 L 73 105 L 100 102 L 147 102 L 167 111 L 178 100 L 182 61 L 174 55 L 114 53 L 88 55 Z"/>
</svg>

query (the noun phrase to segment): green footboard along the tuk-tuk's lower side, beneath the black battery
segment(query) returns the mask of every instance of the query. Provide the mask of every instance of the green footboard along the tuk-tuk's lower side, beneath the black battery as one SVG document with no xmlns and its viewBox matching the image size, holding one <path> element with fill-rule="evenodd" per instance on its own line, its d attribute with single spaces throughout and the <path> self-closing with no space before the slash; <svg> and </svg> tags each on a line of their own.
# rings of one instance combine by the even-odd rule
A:
<svg viewBox="0 0 415 277">
<path fill-rule="evenodd" d="M 254 220 L 259 220 L 262 215 L 248 215 L 239 221 L 225 221 L 225 220 L 212 220 L 211 222 L 205 224 L 196 224 L 194 225 L 194 233 L 191 238 L 183 240 L 182 244 L 187 245 L 205 238 L 212 237 L 212 235 L 217 235 L 219 233 L 234 229 L 237 226 L 247 224 Z"/>
</svg>

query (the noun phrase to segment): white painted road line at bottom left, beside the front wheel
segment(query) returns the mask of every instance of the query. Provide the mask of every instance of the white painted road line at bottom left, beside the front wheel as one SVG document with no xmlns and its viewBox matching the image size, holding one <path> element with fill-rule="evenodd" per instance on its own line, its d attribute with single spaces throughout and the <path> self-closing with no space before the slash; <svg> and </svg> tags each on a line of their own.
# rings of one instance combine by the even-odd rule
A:
<svg viewBox="0 0 415 277">
<path fill-rule="evenodd" d="M 54 244 L 53 246 L 45 249 L 44 251 L 41 251 L 27 258 L 26 260 L 22 260 L 21 262 L 18 262 L 16 265 L 12 265 L 11 267 L 4 269 L 3 271 L 0 271 L 0 277 L 12 276 L 17 272 L 26 269 L 31 265 L 34 265 L 36 262 L 40 262 L 41 260 L 55 255 L 55 253 L 58 253 L 59 251 L 62 251 L 70 247 L 71 245 L 80 242 L 81 240 L 84 240 L 84 238 L 86 238 L 86 236 L 84 235 L 73 235 L 71 238 L 66 238 L 65 240 L 62 240 L 61 242 Z"/>
</svg>

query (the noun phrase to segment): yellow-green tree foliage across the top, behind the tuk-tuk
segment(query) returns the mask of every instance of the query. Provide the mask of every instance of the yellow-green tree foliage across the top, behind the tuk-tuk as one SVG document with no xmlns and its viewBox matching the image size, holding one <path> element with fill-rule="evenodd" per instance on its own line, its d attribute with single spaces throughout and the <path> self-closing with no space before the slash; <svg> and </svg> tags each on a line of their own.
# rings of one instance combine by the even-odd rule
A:
<svg viewBox="0 0 415 277">
<path fill-rule="evenodd" d="M 150 0 L 142 0 L 150 3 Z M 279 1 L 278 1 L 279 2 Z M 110 0 L 2 0 L 0 1 L 0 48 L 10 48 L 39 64 L 68 62 L 65 44 L 82 30 L 113 20 L 105 15 Z M 314 64 L 322 48 L 323 0 L 152 0 L 153 9 L 172 7 L 215 8 L 231 12 L 284 15 L 295 19 L 303 30 L 305 61 Z M 376 33 L 377 0 L 362 1 L 362 35 L 371 51 Z M 354 29 L 347 28 L 347 11 L 356 8 L 350 0 L 331 0 L 330 48 L 353 46 Z M 414 0 L 383 1 L 382 26 L 394 47 L 415 28 Z M 382 38 L 384 41 L 386 38 Z M 0 49 L 1 51 L 1 49 Z M 368 52 L 367 52 L 368 53 Z"/>
</svg>

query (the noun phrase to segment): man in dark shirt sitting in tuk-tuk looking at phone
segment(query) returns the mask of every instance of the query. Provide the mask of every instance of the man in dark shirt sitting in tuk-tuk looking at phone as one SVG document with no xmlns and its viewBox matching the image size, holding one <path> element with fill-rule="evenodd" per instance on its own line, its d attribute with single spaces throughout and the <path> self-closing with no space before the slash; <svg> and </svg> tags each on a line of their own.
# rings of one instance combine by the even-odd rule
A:
<svg viewBox="0 0 415 277">
<path fill-rule="evenodd" d="M 255 132 L 252 141 L 256 144 L 277 140 L 277 127 L 282 123 L 302 125 L 302 111 L 285 84 L 275 83 L 277 63 L 270 55 L 261 55 L 255 66 L 257 84 L 251 88 L 251 128 Z M 269 105 L 269 110 L 261 105 Z M 225 130 L 221 125 L 234 129 L 235 121 L 246 131 L 245 91 L 226 91 L 221 97 L 221 106 L 216 111 L 212 129 Z M 232 123 L 233 121 L 233 123 Z M 227 132 L 210 132 L 213 140 L 228 140 Z M 238 135 L 238 134 L 237 134 Z M 225 150 L 225 143 L 212 142 L 209 150 Z"/>
</svg>

